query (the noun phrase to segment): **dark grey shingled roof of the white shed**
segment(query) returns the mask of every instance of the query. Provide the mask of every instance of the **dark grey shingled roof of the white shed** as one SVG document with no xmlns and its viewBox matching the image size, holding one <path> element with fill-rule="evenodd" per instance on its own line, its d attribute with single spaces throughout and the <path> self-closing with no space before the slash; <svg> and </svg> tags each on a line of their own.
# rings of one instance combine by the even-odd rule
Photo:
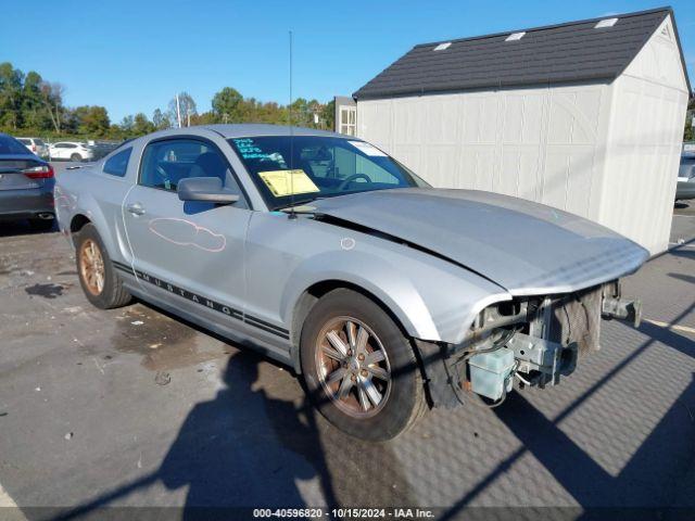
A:
<svg viewBox="0 0 695 521">
<path fill-rule="evenodd" d="M 624 71 L 669 14 L 672 15 L 670 8 L 660 8 L 422 43 L 415 46 L 353 97 L 388 98 L 486 87 L 612 79 Z M 611 17 L 618 18 L 612 27 L 594 28 L 598 21 Z M 521 31 L 526 35 L 520 40 L 505 41 L 510 34 Z M 678 39 L 678 31 L 675 37 Z M 445 41 L 451 41 L 447 49 L 434 51 L 439 43 Z"/>
</svg>

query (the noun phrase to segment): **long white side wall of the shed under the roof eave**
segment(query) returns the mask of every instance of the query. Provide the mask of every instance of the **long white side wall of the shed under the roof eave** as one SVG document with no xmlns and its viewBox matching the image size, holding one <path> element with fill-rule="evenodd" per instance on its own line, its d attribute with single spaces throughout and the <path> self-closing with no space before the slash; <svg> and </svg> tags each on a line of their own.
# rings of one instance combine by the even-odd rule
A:
<svg viewBox="0 0 695 521">
<path fill-rule="evenodd" d="M 435 187 L 491 190 L 595 218 L 605 85 L 357 103 L 357 135 Z M 603 112 L 602 112 L 603 111 Z"/>
</svg>

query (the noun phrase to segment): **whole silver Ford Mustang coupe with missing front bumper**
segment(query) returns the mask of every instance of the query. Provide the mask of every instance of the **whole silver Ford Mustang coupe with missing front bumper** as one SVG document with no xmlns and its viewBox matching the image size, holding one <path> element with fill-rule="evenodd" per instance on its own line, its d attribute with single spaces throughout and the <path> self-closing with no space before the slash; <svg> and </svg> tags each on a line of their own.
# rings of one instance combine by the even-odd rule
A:
<svg viewBox="0 0 695 521">
<path fill-rule="evenodd" d="M 388 440 L 428 406 L 555 385 L 639 321 L 647 252 L 583 218 L 437 190 L 356 138 L 270 125 L 155 132 L 63 174 L 87 298 L 131 295 L 292 367 L 326 418 Z"/>
</svg>

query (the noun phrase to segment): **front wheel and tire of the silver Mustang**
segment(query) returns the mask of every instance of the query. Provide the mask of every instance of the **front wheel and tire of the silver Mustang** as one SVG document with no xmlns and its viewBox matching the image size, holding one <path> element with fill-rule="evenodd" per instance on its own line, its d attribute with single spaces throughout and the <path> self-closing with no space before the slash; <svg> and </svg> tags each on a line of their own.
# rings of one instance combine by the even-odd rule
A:
<svg viewBox="0 0 695 521">
<path fill-rule="evenodd" d="M 361 293 L 340 289 L 321 297 L 304 322 L 300 352 L 309 398 L 348 434 L 391 440 L 427 408 L 409 340 Z"/>
</svg>

